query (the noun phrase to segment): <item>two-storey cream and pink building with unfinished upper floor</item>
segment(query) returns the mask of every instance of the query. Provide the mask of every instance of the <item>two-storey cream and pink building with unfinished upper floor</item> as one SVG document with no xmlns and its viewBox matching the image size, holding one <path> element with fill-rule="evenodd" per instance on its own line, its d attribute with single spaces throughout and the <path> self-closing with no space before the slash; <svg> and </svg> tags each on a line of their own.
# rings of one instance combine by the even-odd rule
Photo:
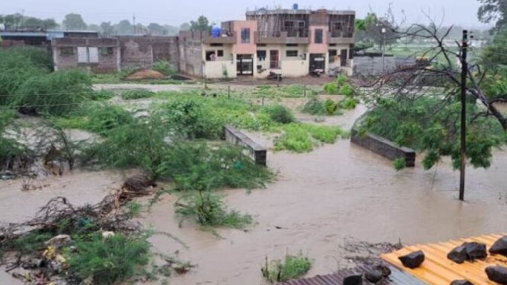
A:
<svg viewBox="0 0 507 285">
<path fill-rule="evenodd" d="M 220 29 L 179 34 L 179 69 L 204 78 L 352 74 L 352 11 L 258 10 Z"/>
</svg>

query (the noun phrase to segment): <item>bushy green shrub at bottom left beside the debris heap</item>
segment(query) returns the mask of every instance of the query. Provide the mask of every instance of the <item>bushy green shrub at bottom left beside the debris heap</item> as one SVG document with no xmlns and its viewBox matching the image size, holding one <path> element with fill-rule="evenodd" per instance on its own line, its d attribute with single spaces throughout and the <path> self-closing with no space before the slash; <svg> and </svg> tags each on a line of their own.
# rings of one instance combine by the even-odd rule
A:
<svg viewBox="0 0 507 285">
<path fill-rule="evenodd" d="M 115 234 L 104 238 L 93 234 L 76 238 L 75 250 L 66 253 L 68 270 L 80 280 L 93 278 L 93 284 L 118 284 L 144 272 L 149 262 L 150 244 L 146 237 Z"/>
</svg>

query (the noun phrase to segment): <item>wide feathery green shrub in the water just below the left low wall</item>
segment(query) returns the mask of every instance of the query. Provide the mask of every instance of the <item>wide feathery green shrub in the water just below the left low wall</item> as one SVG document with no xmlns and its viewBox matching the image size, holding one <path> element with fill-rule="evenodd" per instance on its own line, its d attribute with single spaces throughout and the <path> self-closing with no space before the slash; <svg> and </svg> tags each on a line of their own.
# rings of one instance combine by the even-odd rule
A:
<svg viewBox="0 0 507 285">
<path fill-rule="evenodd" d="M 229 145 L 178 143 L 163 157 L 158 174 L 173 180 L 180 191 L 264 187 L 273 174 L 241 151 Z"/>
</svg>

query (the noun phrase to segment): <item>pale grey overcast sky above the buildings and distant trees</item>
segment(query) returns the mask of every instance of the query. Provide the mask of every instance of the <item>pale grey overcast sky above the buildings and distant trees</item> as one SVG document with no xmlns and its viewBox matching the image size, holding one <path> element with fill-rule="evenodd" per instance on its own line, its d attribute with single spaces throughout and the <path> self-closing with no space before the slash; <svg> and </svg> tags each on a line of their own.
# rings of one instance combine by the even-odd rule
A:
<svg viewBox="0 0 507 285">
<path fill-rule="evenodd" d="M 274 5 L 291 8 L 295 3 L 300 8 L 354 10 L 362 17 L 370 10 L 378 14 L 385 13 L 391 3 L 393 11 L 401 15 L 403 10 L 408 22 L 411 23 L 427 22 L 421 12 L 424 10 L 439 22 L 445 14 L 445 24 L 467 27 L 481 25 L 477 20 L 479 8 L 477 0 L 4 0 L 3 2 L 0 14 L 22 13 L 24 10 L 27 16 L 56 18 L 60 22 L 65 14 L 74 12 L 81 14 L 88 24 L 131 20 L 134 13 L 137 22 L 143 24 L 158 22 L 178 25 L 199 15 L 205 15 L 215 22 L 242 20 L 246 10 Z"/>
</svg>

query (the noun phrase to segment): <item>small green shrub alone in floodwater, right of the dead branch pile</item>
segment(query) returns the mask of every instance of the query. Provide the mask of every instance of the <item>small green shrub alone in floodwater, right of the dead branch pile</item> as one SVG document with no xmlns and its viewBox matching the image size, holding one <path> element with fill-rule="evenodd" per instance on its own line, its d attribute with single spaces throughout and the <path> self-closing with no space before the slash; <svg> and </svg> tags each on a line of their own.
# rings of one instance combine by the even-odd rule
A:
<svg viewBox="0 0 507 285">
<path fill-rule="evenodd" d="M 234 210 L 228 210 L 222 197 L 209 191 L 188 195 L 176 202 L 176 213 L 193 217 L 202 226 L 244 228 L 252 218 Z"/>
</svg>

